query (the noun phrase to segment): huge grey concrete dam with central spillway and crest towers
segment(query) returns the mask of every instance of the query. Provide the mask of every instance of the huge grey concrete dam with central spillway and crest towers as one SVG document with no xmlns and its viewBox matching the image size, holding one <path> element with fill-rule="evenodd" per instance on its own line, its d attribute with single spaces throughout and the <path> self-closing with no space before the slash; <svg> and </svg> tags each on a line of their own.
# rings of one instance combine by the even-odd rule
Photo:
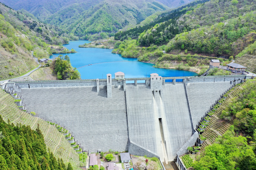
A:
<svg viewBox="0 0 256 170">
<path fill-rule="evenodd" d="M 108 74 L 107 79 L 8 82 L 2 88 L 20 93 L 29 112 L 69 129 L 84 151 L 129 151 L 169 162 L 187 152 L 184 144 L 195 143 L 196 125 L 220 96 L 249 78 L 112 79 Z"/>
</svg>

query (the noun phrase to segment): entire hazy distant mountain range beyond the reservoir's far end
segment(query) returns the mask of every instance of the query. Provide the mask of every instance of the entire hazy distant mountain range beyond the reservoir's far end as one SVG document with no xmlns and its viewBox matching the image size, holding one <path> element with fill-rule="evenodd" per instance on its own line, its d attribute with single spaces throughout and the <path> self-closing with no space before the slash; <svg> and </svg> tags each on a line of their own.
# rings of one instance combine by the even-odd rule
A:
<svg viewBox="0 0 256 170">
<path fill-rule="evenodd" d="M 156 11 L 167 6 L 155 0 L 71 0 L 71 1 L 9 1 L 4 3 L 14 9 L 31 12 L 37 18 L 52 25 L 67 29 L 84 39 L 113 36 L 129 24 L 137 24 Z M 101 33 L 101 35 L 100 35 Z"/>
</svg>

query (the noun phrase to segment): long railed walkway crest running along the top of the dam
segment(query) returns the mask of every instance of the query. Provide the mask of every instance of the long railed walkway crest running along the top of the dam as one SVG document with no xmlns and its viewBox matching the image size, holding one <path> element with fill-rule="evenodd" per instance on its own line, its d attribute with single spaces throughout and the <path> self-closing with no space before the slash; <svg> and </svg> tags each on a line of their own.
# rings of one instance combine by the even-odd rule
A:
<svg viewBox="0 0 256 170">
<path fill-rule="evenodd" d="M 158 81 L 162 81 L 162 85 L 165 83 L 173 83 L 176 81 L 182 80 L 183 82 L 188 83 L 196 83 L 196 82 L 219 82 L 219 81 L 230 81 L 233 84 L 236 84 L 239 80 L 244 80 L 252 78 L 252 76 L 209 76 L 209 77 L 161 77 Z M 134 81 L 134 85 L 137 86 L 137 81 L 145 81 L 147 86 L 152 84 L 153 78 L 125 78 L 125 79 L 111 79 L 112 86 L 124 86 L 126 81 Z M 157 79 L 156 79 L 157 80 Z M 165 82 L 165 80 L 172 80 L 172 82 Z M 107 86 L 107 79 L 83 79 L 83 80 L 43 80 L 43 81 L 17 81 L 17 82 L 5 82 L 0 85 L 2 89 L 7 87 L 18 86 L 17 88 L 44 88 L 44 87 L 79 87 L 79 86 L 97 86 L 97 81 L 99 86 Z M 7 86 L 6 86 L 7 85 Z M 161 89 L 161 85 L 158 85 Z M 18 89 L 15 89 L 18 90 Z"/>
</svg>

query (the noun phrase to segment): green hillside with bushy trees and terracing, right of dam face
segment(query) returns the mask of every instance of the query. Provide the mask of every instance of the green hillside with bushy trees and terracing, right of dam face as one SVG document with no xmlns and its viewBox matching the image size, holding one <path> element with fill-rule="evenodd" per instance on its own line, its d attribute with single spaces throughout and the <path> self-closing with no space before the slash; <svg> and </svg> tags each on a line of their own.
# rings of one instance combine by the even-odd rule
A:
<svg viewBox="0 0 256 170">
<path fill-rule="evenodd" d="M 243 169 L 256 167 L 256 79 L 230 90 L 228 98 L 211 117 L 201 138 L 195 170 Z M 185 162 L 185 160 L 184 160 Z"/>
</svg>

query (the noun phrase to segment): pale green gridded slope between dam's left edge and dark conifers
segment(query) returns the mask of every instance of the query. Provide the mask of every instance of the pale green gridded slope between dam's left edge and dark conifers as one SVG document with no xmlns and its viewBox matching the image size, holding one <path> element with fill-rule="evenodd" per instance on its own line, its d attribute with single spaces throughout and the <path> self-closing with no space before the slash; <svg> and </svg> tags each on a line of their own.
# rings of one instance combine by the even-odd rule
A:
<svg viewBox="0 0 256 170">
<path fill-rule="evenodd" d="M 30 126 L 33 130 L 39 124 L 40 130 L 44 135 L 46 147 L 50 149 L 54 156 L 56 158 L 62 158 L 64 162 L 70 162 L 74 166 L 78 165 L 79 156 L 65 137 L 54 126 L 45 122 L 43 119 L 20 111 L 14 103 L 13 97 L 3 90 L 0 90 L 0 114 L 5 122 L 10 120 L 10 123 L 21 123 Z"/>
</svg>

